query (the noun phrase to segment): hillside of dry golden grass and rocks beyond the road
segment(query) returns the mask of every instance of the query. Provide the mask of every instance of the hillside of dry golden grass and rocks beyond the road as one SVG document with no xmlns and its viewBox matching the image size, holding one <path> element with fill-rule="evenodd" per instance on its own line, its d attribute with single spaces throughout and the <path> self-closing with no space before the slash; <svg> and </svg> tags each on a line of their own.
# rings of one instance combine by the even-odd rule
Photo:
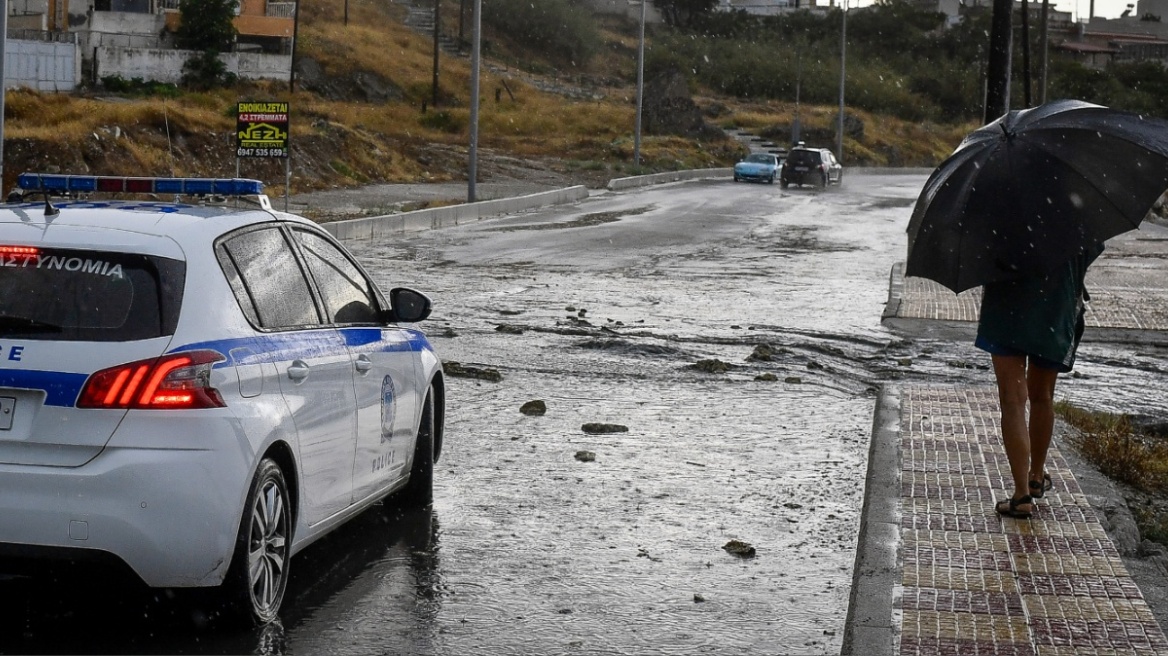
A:
<svg viewBox="0 0 1168 656">
<path fill-rule="evenodd" d="M 12 91 L 6 112 L 4 190 L 25 170 L 120 175 L 235 175 L 234 109 L 239 100 L 291 105 L 292 190 L 376 182 L 466 180 L 470 60 L 443 53 L 438 103 L 432 41 L 406 27 L 408 4 L 343 0 L 304 5 L 296 91 L 286 83 L 183 93 Z M 447 25 L 457 35 L 458 1 Z M 562 70 L 538 54 L 495 43 L 481 74 L 479 179 L 600 186 L 611 177 L 730 166 L 742 145 L 721 131 L 701 137 L 644 134 L 633 166 L 635 40 L 632 26 L 602 20 L 604 51 L 588 69 Z M 526 62 L 519 68 L 516 62 Z M 783 141 L 795 107 L 700 92 L 710 126 L 743 127 Z M 834 145 L 836 110 L 799 107 L 805 139 Z M 932 166 L 968 126 L 915 125 L 848 112 L 844 163 Z M 239 173 L 272 194 L 281 161 L 246 160 Z"/>
</svg>

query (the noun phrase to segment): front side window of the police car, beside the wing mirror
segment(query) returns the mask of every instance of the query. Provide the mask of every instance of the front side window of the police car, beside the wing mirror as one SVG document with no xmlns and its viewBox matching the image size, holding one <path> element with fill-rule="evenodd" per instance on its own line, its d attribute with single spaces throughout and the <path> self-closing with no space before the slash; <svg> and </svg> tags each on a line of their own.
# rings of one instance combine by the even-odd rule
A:
<svg viewBox="0 0 1168 656">
<path fill-rule="evenodd" d="M 317 281 L 329 320 L 334 323 L 377 323 L 373 284 L 353 260 L 315 232 L 293 229 L 292 233 Z"/>
</svg>

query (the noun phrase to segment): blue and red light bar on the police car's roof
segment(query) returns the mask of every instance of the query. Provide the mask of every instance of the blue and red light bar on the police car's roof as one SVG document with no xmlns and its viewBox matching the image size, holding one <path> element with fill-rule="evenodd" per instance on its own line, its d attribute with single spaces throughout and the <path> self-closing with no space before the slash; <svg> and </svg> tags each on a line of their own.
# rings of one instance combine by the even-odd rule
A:
<svg viewBox="0 0 1168 656">
<path fill-rule="evenodd" d="M 121 177 L 112 175 L 55 175 L 22 173 L 16 186 L 26 191 L 114 191 L 125 194 L 186 194 L 256 196 L 264 183 L 244 177 Z"/>
</svg>

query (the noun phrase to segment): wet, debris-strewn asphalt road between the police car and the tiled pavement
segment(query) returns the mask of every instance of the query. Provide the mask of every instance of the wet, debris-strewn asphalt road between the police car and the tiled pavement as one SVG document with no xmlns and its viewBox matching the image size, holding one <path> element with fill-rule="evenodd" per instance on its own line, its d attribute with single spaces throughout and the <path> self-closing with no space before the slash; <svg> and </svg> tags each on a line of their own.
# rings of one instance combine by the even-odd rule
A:
<svg viewBox="0 0 1168 656">
<path fill-rule="evenodd" d="M 450 378 L 432 510 L 298 556 L 264 630 L 123 579 L 0 581 L 0 651 L 837 654 L 878 385 L 992 381 L 880 323 L 923 182 L 673 184 L 354 246 L 431 294 L 444 361 L 501 376 Z"/>
</svg>

